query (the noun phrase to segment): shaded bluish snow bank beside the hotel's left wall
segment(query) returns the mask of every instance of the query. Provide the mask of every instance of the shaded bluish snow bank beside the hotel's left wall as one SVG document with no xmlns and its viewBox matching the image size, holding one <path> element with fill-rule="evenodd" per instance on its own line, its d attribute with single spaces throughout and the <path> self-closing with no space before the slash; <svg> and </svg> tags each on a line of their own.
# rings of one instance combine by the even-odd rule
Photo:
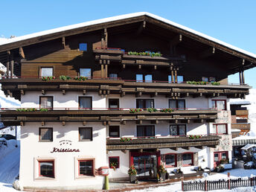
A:
<svg viewBox="0 0 256 192">
<path fill-rule="evenodd" d="M 13 182 L 19 174 L 19 149 L 19 140 L 13 139 L 0 147 L 0 192 L 16 191 Z"/>
</svg>

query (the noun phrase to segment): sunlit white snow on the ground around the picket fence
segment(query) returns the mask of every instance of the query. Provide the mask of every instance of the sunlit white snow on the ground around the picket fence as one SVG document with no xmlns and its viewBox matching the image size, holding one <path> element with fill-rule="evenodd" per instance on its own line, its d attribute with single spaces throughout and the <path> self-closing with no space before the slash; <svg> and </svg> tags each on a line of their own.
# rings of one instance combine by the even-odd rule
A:
<svg viewBox="0 0 256 192">
<path fill-rule="evenodd" d="M 256 170 L 244 170 L 244 169 L 232 169 L 232 170 L 225 170 L 223 173 L 212 173 L 210 176 L 203 178 L 207 179 L 209 181 L 219 180 L 219 179 L 227 179 L 228 178 L 228 172 L 230 173 L 230 178 L 237 178 L 237 177 L 250 177 L 250 176 L 256 176 Z M 199 180 L 199 179 L 196 179 Z M 233 190 L 219 190 L 221 192 L 223 191 L 256 191 L 256 188 L 236 188 Z M 150 191 L 150 192 L 171 192 L 171 191 L 182 191 L 182 182 L 173 182 L 170 183 L 170 185 L 160 186 L 156 188 L 145 188 L 142 190 L 133 190 L 131 192 L 144 192 L 144 191 Z"/>
</svg>

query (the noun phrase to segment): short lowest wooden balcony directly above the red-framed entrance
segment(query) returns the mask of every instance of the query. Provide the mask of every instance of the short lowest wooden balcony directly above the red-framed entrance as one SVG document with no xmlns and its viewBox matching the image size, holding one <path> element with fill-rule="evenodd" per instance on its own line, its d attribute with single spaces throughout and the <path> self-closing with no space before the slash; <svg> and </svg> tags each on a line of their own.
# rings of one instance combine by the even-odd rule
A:
<svg viewBox="0 0 256 192">
<path fill-rule="evenodd" d="M 142 149 L 161 149 L 172 148 L 177 150 L 183 147 L 189 150 L 189 147 L 216 147 L 220 144 L 218 135 L 206 135 L 202 138 L 188 137 L 160 137 L 160 138 L 135 138 L 132 141 L 120 141 L 120 139 L 107 139 L 106 150 L 142 150 Z"/>
</svg>

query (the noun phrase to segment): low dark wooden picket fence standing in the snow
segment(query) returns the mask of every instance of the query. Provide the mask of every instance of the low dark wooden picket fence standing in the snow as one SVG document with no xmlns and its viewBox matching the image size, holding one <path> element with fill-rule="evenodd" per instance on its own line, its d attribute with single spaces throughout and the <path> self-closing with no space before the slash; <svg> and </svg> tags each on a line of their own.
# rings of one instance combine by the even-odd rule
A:
<svg viewBox="0 0 256 192">
<path fill-rule="evenodd" d="M 233 189 L 240 187 L 252 187 L 256 185 L 256 177 L 248 179 L 221 179 L 218 181 L 182 181 L 182 191 L 211 191 L 221 189 Z"/>
</svg>

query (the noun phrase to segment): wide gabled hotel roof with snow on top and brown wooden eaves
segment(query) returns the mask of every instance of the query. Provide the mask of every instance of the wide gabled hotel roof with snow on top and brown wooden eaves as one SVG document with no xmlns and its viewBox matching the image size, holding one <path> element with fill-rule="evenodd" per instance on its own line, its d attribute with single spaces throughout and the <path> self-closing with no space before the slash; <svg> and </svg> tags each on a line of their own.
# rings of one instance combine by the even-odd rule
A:
<svg viewBox="0 0 256 192">
<path fill-rule="evenodd" d="M 224 51 L 225 53 L 232 54 L 237 59 L 243 59 L 246 61 L 246 65 L 244 65 L 244 69 L 253 68 L 256 66 L 256 54 L 252 54 L 249 51 L 245 51 L 241 48 L 237 48 L 233 45 L 220 41 L 219 39 L 215 39 L 211 36 L 207 36 L 204 33 L 200 33 L 198 31 L 194 31 L 191 28 L 187 28 L 183 25 L 179 25 L 176 22 L 171 22 L 168 19 L 161 18 L 160 16 L 156 16 L 152 13 L 147 12 L 139 12 L 139 13 L 130 13 L 121 16 L 113 16 L 105 19 L 97 19 L 91 22 L 83 22 L 76 25 L 68 25 L 62 28 L 55 28 L 48 31 L 41 31 L 38 33 L 31 33 L 25 36 L 18 36 L 12 39 L 7 39 L 5 41 L 0 42 L 0 53 L 3 51 L 9 51 L 15 48 L 20 48 L 27 45 L 36 44 L 38 42 L 45 42 L 51 39 L 57 39 L 63 36 L 71 36 L 78 33 L 86 33 L 88 31 L 95 31 L 100 28 L 109 28 L 112 26 L 118 25 L 126 25 L 127 23 L 132 22 L 141 22 L 144 21 L 145 18 L 150 18 L 156 21 L 156 23 L 163 24 L 164 26 L 170 26 L 170 28 L 175 28 L 177 33 L 181 33 L 184 36 L 188 36 L 191 39 L 195 39 L 196 41 L 202 42 L 205 45 L 209 45 L 212 47 L 216 47 L 220 49 L 220 51 Z M 124 22 L 128 21 L 129 22 Z M 240 63 L 240 62 L 239 62 Z M 240 67 L 240 64 L 234 65 L 235 68 Z M 237 70 L 237 69 L 236 69 Z M 232 71 L 231 73 L 234 73 Z"/>
</svg>

